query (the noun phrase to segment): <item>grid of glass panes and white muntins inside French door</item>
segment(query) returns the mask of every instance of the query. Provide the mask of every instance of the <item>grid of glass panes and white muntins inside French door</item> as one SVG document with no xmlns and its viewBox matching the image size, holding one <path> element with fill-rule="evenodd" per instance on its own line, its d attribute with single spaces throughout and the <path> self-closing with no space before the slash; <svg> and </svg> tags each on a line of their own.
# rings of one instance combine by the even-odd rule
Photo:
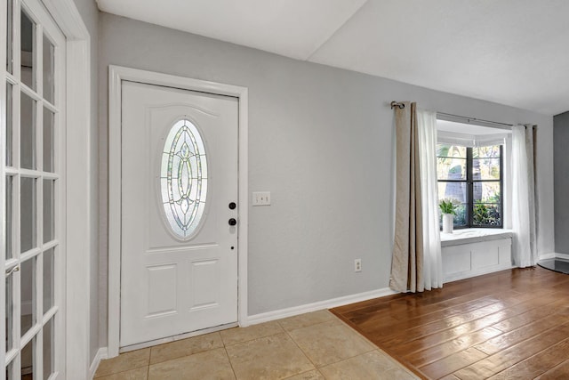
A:
<svg viewBox="0 0 569 380">
<path fill-rule="evenodd" d="M 4 4 L 7 14 L 15 16 L 5 23 L 4 258 L 11 268 L 20 269 L 6 277 L 4 289 L 4 350 L 10 361 L 6 376 L 47 379 L 54 373 L 58 311 L 54 299 L 59 249 L 55 225 L 59 174 L 54 154 L 59 123 L 54 75 L 57 52 L 43 26 L 23 9 L 25 5 L 13 0 Z M 13 308 L 14 303 L 20 305 Z"/>
</svg>

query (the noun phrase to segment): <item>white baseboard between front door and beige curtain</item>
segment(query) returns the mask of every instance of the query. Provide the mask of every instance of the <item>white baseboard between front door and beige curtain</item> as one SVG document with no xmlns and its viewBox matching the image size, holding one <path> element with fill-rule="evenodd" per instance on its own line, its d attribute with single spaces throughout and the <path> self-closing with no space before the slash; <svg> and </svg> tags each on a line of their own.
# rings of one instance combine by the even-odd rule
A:
<svg viewBox="0 0 569 380">
<path fill-rule="evenodd" d="M 260 314 L 250 315 L 247 317 L 245 323 L 243 323 L 244 321 L 240 321 L 240 325 L 241 327 L 247 327 L 250 325 L 256 325 L 258 323 L 268 322 L 270 320 L 293 317 L 295 315 L 304 314 L 305 312 L 330 309 L 349 303 L 359 303 L 362 301 L 371 300 L 373 298 L 396 294 L 397 292 L 391 290 L 389 287 L 384 287 L 377 290 L 371 290 L 369 292 L 358 293 L 357 295 L 344 295 L 342 297 L 325 301 L 318 301 L 316 303 L 307 303 L 300 306 L 293 306 L 276 311 L 261 312 Z"/>
</svg>

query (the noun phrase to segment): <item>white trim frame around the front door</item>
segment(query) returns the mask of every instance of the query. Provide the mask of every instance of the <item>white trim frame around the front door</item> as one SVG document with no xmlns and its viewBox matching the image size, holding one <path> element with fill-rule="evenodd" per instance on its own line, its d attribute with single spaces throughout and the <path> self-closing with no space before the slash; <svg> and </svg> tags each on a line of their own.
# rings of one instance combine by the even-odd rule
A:
<svg viewBox="0 0 569 380">
<path fill-rule="evenodd" d="M 237 323 L 247 321 L 248 89 L 154 71 L 108 66 L 108 357 L 118 355 L 121 272 L 121 86 L 123 81 L 233 96 L 239 102 Z"/>
</svg>

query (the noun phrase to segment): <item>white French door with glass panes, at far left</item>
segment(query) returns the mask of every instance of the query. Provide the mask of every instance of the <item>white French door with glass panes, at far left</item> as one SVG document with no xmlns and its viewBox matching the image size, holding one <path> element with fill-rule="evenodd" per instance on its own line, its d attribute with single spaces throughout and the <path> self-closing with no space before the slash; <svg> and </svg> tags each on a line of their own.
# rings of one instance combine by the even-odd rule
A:
<svg viewBox="0 0 569 380">
<path fill-rule="evenodd" d="M 40 0 L 0 4 L 0 379 L 61 378 L 65 38 Z"/>
</svg>

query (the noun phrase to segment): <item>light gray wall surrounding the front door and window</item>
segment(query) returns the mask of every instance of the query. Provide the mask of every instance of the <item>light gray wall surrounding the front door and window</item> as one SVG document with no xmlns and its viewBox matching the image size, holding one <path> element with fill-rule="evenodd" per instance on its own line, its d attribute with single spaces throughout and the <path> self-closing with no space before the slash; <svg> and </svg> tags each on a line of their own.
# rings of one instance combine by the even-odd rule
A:
<svg viewBox="0 0 569 380">
<path fill-rule="evenodd" d="M 100 151 L 105 152 L 100 156 L 101 221 L 108 215 L 109 64 L 249 88 L 249 187 L 272 192 L 271 206 L 248 210 L 249 315 L 388 287 L 392 100 L 540 125 L 539 244 L 540 252 L 553 250 L 552 117 L 107 13 L 100 18 Z M 105 230 L 101 232 L 105 260 L 108 247 Z M 361 273 L 353 271 L 355 258 L 362 259 Z M 102 289 L 100 297 L 104 305 Z"/>
</svg>

